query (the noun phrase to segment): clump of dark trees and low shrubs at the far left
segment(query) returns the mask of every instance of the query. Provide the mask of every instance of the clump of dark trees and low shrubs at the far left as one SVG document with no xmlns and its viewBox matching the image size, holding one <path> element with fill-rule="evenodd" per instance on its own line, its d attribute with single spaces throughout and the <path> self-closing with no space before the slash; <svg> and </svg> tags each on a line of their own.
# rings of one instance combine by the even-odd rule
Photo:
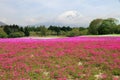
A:
<svg viewBox="0 0 120 80">
<path fill-rule="evenodd" d="M 29 36 L 28 27 L 20 27 L 18 25 L 4 25 L 0 26 L 0 37 L 1 38 L 16 38 Z"/>
</svg>

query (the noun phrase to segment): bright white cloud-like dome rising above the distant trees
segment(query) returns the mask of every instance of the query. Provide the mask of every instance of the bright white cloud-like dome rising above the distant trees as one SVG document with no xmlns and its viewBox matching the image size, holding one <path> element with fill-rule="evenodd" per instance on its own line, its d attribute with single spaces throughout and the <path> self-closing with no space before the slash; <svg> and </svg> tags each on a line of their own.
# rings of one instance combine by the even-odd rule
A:
<svg viewBox="0 0 120 80">
<path fill-rule="evenodd" d="M 71 11 L 65 11 L 62 14 L 60 14 L 57 17 L 56 21 L 68 25 L 87 26 L 87 22 L 89 21 L 89 18 L 76 10 L 71 10 Z"/>
</svg>

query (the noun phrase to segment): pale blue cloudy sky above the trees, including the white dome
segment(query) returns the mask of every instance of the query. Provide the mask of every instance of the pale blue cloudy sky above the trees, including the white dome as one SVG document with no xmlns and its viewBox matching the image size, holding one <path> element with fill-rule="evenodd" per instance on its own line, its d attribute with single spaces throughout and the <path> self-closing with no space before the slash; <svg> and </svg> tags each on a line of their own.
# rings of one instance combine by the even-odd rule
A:
<svg viewBox="0 0 120 80">
<path fill-rule="evenodd" d="M 87 27 L 97 18 L 120 20 L 120 0 L 0 0 L 6 24 Z"/>
</svg>

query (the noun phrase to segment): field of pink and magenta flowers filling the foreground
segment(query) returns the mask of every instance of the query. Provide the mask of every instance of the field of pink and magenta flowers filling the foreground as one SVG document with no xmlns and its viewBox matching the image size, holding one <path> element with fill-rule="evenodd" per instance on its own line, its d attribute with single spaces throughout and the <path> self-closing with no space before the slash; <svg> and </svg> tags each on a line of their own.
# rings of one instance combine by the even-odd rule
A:
<svg viewBox="0 0 120 80">
<path fill-rule="evenodd" d="M 0 80 L 119 80 L 120 37 L 0 39 Z"/>
</svg>

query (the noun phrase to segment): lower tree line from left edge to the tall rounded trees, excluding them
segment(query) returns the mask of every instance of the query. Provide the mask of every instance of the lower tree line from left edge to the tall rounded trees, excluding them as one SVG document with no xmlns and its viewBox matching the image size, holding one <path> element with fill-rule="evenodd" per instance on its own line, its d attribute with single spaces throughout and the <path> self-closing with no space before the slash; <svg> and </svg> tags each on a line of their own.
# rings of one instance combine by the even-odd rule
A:
<svg viewBox="0 0 120 80">
<path fill-rule="evenodd" d="M 0 37 L 27 37 L 27 36 L 78 36 L 86 35 L 87 28 L 69 26 L 25 26 L 5 25 L 0 27 Z"/>
</svg>

